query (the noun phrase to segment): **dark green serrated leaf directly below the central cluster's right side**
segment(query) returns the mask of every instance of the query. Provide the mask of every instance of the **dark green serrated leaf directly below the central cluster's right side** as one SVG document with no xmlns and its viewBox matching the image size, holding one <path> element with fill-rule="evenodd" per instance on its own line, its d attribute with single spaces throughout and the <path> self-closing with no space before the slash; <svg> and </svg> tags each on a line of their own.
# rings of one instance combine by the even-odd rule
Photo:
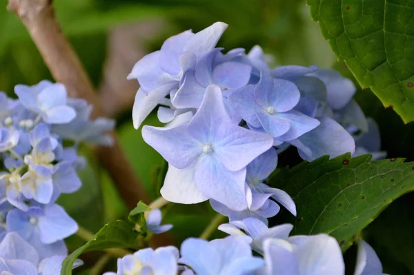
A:
<svg viewBox="0 0 414 275">
<path fill-rule="evenodd" d="M 414 190 L 414 163 L 370 160 L 370 155 L 322 156 L 273 176 L 270 185 L 296 203 L 296 218 L 281 216 L 295 225 L 293 234 L 331 234 L 345 250 L 388 204 Z"/>
</svg>

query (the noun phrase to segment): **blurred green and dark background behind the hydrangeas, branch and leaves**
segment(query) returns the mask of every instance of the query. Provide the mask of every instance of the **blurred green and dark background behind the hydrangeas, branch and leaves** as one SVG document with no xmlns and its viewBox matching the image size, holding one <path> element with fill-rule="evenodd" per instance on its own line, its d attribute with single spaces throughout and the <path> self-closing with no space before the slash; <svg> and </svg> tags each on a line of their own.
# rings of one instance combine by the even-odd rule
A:
<svg viewBox="0 0 414 275">
<path fill-rule="evenodd" d="M 7 1 L 0 0 L 0 90 L 12 96 L 17 83 L 33 85 L 52 78 L 25 28 L 6 6 Z M 54 6 L 62 30 L 97 87 L 104 108 L 117 119 L 117 132 L 132 167 L 154 199 L 159 196 L 159 177 L 165 163 L 144 143 L 140 131 L 132 128 L 130 112 L 138 85 L 127 81 L 126 75 L 139 58 L 160 48 L 172 34 L 190 28 L 197 32 L 215 21 L 224 21 L 229 28 L 219 46 L 225 51 L 248 51 L 258 44 L 273 56 L 273 65 L 336 68 L 353 79 L 322 39 L 304 0 L 55 0 Z M 369 90 L 358 89 L 356 98 L 364 112 L 380 124 L 382 146 L 388 156 L 414 160 L 413 125 L 404 125 Z M 159 122 L 151 114 L 144 124 Z M 83 147 L 82 152 L 89 160 L 81 172 L 83 187 L 76 194 L 62 196 L 60 203 L 79 224 L 96 232 L 106 221 L 126 216 L 127 209 L 90 148 Z M 395 201 L 363 233 L 382 258 L 384 272 L 414 274 L 413 198 L 408 194 Z M 171 232 L 178 244 L 188 236 L 198 236 L 213 216 L 208 203 L 196 207 L 168 205 L 164 220 L 175 225 Z M 70 249 L 81 244 L 76 237 L 68 240 Z M 83 273 L 88 274 L 88 270 Z"/>
</svg>

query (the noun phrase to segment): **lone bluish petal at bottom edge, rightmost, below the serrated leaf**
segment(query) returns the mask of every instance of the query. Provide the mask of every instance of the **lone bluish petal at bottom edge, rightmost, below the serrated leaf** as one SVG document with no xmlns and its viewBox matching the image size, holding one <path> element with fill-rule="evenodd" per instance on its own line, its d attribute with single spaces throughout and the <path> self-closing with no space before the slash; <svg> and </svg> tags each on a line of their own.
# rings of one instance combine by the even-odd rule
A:
<svg viewBox="0 0 414 275">
<path fill-rule="evenodd" d="M 354 275 L 387 275 L 382 272 L 382 264 L 373 247 L 359 240 L 357 264 Z"/>
</svg>

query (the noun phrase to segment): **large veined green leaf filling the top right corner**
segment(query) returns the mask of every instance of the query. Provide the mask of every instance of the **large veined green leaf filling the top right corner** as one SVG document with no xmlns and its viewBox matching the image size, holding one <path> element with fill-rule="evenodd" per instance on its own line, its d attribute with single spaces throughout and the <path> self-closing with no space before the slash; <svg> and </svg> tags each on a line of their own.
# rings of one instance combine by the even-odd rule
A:
<svg viewBox="0 0 414 275">
<path fill-rule="evenodd" d="M 307 0 L 338 59 L 403 121 L 414 121 L 414 1 Z"/>
</svg>

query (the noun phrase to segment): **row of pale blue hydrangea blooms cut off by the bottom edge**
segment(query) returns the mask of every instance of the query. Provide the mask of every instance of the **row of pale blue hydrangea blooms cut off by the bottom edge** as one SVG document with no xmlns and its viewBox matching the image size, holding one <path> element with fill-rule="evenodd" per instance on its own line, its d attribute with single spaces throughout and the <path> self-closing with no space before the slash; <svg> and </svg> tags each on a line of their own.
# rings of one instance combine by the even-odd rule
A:
<svg viewBox="0 0 414 275">
<path fill-rule="evenodd" d="M 141 249 L 119 258 L 118 271 L 104 275 L 341 275 L 345 264 L 335 238 L 327 234 L 289 236 L 293 225 L 268 228 L 257 218 L 219 226 L 232 236 L 213 241 L 188 238 L 176 247 Z M 254 256 L 253 250 L 260 256 Z M 382 264 L 360 240 L 354 275 L 382 275 Z M 386 274 L 384 274 L 386 275 Z"/>
</svg>

